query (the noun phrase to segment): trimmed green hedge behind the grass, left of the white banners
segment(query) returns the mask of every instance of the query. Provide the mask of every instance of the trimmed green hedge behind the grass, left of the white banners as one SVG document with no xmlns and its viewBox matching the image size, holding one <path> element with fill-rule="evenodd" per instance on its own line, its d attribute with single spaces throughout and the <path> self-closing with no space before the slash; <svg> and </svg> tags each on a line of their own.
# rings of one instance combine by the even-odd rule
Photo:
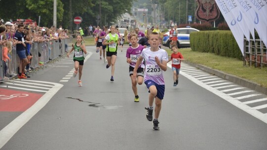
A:
<svg viewBox="0 0 267 150">
<path fill-rule="evenodd" d="M 215 53 L 242 60 L 242 53 L 231 31 L 200 31 L 190 34 L 193 51 Z"/>
</svg>

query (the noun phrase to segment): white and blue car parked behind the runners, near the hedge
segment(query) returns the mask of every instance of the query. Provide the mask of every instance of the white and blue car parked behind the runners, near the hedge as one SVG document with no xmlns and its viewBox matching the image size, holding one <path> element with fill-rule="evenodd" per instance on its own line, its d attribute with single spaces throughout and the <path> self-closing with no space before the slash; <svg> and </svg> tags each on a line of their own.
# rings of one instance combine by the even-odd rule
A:
<svg viewBox="0 0 267 150">
<path fill-rule="evenodd" d="M 177 41 L 177 46 L 180 47 L 190 47 L 190 33 L 192 32 L 199 32 L 199 30 L 195 28 L 177 28 L 178 30 L 178 41 Z M 170 36 L 170 30 L 166 32 L 163 35 L 163 40 L 162 44 L 163 46 L 167 46 L 171 48 L 170 44 L 171 41 L 169 39 Z"/>
</svg>

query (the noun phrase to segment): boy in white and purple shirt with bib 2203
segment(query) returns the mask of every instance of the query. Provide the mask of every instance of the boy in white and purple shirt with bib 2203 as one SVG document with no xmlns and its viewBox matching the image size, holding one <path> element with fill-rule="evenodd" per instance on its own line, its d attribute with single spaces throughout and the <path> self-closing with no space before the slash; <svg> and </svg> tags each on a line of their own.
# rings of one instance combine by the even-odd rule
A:
<svg viewBox="0 0 267 150">
<path fill-rule="evenodd" d="M 159 130 L 159 114 L 161 110 L 161 103 L 165 92 L 165 82 L 162 70 L 167 70 L 168 54 L 164 49 L 159 48 L 160 35 L 158 33 L 151 33 L 148 38 L 150 48 L 145 48 L 141 52 L 135 67 L 133 77 L 136 78 L 137 69 L 143 59 L 145 59 L 145 76 L 144 83 L 150 92 L 148 97 L 148 107 L 146 118 L 148 121 L 153 119 L 153 102 L 155 99 L 155 115 L 153 120 L 153 129 Z"/>
</svg>

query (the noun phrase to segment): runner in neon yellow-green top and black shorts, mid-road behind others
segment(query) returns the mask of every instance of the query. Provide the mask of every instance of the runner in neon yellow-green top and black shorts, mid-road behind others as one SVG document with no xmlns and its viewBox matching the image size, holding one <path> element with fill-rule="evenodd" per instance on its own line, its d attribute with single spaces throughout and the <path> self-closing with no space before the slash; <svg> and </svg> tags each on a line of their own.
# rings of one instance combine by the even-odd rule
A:
<svg viewBox="0 0 267 150">
<path fill-rule="evenodd" d="M 114 71 L 115 71 L 115 63 L 117 59 L 117 49 L 118 44 L 120 44 L 119 36 L 116 34 L 115 26 L 110 27 L 111 33 L 107 34 L 103 41 L 103 45 L 107 45 L 107 61 L 108 64 L 106 68 L 108 69 L 111 66 L 111 78 L 110 81 L 114 81 Z"/>
</svg>

